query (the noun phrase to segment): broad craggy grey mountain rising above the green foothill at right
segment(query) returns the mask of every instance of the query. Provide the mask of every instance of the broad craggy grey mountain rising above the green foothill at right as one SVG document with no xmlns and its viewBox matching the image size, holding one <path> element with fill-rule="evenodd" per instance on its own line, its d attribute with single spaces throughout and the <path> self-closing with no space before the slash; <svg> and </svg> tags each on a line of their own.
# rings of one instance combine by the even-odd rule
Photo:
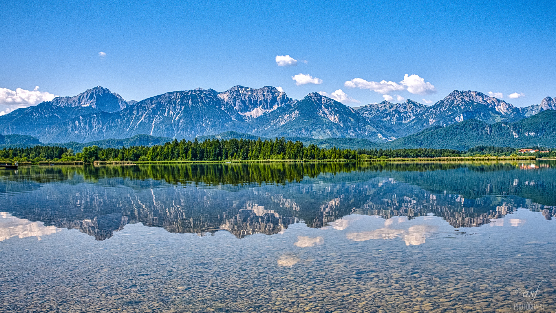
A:
<svg viewBox="0 0 556 313">
<path fill-rule="evenodd" d="M 493 124 L 499 121 L 513 122 L 523 118 L 525 115 L 519 108 L 503 100 L 489 97 L 478 91 L 454 90 L 410 121 L 400 132 L 414 134 L 430 126 L 446 126 L 467 119 Z"/>
</svg>

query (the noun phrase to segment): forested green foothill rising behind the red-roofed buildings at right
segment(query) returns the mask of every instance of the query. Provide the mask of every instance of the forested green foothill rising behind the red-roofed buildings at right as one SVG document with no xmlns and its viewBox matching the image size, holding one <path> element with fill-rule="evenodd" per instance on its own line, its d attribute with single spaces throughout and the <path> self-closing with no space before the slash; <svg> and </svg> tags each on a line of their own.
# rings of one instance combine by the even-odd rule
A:
<svg viewBox="0 0 556 313">
<path fill-rule="evenodd" d="M 433 126 L 385 144 L 392 149 L 435 148 L 466 150 L 476 145 L 548 146 L 556 148 L 556 111 L 547 110 L 515 123 L 488 124 L 469 119 L 449 126 Z"/>
</svg>

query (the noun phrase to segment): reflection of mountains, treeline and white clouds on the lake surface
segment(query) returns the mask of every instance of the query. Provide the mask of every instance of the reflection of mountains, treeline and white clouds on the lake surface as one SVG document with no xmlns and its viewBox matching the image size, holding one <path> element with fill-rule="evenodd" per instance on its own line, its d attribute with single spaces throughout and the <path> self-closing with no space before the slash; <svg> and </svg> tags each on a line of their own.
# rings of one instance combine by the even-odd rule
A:
<svg viewBox="0 0 556 313">
<path fill-rule="evenodd" d="M 434 214 L 454 228 L 475 227 L 527 208 L 551 219 L 555 167 L 540 161 L 28 167 L 0 173 L 2 214 L 27 220 L 18 227 L 27 227 L 22 233 L 28 235 L 13 235 L 1 224 L 0 237 L 75 228 L 104 240 L 126 224 L 142 223 L 171 233 L 225 230 L 242 238 L 297 222 L 345 229 L 342 217 L 363 214 L 387 219 L 385 228 L 349 239 L 403 238 L 414 245 L 435 228 L 396 229 L 389 218 Z M 299 238 L 296 246 L 320 240 Z M 286 256 L 279 265 L 295 262 Z"/>
</svg>

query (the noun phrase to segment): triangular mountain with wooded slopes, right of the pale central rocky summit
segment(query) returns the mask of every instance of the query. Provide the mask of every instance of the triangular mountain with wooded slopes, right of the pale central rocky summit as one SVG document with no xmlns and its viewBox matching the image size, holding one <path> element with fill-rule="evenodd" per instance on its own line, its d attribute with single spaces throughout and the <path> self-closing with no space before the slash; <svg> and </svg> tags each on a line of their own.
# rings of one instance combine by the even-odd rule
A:
<svg viewBox="0 0 556 313">
<path fill-rule="evenodd" d="M 388 141 L 397 135 L 392 129 L 370 123 L 353 108 L 316 92 L 251 121 L 248 133 L 265 137 L 347 137 L 373 141 Z"/>
</svg>

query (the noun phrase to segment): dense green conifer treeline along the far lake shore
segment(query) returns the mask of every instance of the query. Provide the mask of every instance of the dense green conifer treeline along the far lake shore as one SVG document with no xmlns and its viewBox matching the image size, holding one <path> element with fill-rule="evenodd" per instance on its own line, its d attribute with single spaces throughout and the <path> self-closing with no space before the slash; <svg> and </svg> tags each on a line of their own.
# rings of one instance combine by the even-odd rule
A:
<svg viewBox="0 0 556 313">
<path fill-rule="evenodd" d="M 515 148 L 478 146 L 467 151 L 451 149 L 326 149 L 301 141 L 251 139 L 173 140 L 163 145 L 98 148 L 87 146 L 81 152 L 59 146 L 4 148 L 0 163 L 82 164 L 82 163 L 187 163 L 187 162 L 337 162 L 337 161 L 420 161 L 513 159 L 532 160 L 543 154 L 515 154 Z"/>
</svg>

